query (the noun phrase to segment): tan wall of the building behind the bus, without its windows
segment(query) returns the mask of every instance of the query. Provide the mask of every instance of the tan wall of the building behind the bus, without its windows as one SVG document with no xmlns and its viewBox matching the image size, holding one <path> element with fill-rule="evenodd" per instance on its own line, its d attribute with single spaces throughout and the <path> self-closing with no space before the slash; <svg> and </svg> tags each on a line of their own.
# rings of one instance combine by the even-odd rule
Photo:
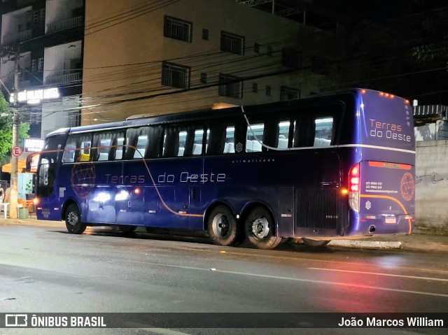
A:
<svg viewBox="0 0 448 335">
<path fill-rule="evenodd" d="M 210 108 L 216 102 L 258 104 L 279 101 L 280 87 L 320 92 L 328 78 L 309 69 L 311 56 L 341 57 L 336 34 L 306 27 L 235 0 L 165 1 L 86 0 L 83 54 L 82 124 L 125 120 L 130 115 L 160 115 Z M 192 42 L 163 36 L 165 15 L 192 22 Z M 209 30 L 209 40 L 202 39 Z M 221 31 L 244 36 L 244 55 L 221 51 Z M 254 51 L 260 44 L 260 52 Z M 272 55 L 267 55 L 268 46 Z M 281 49 L 302 52 L 303 69 L 281 65 Z M 190 90 L 164 86 L 162 62 L 190 66 Z M 207 73 L 207 84 L 200 83 Z M 242 99 L 218 95 L 219 73 L 251 77 Z M 259 76 L 259 78 L 254 78 Z M 258 84 L 254 93 L 253 83 Z M 271 95 L 265 87 L 272 87 Z"/>
</svg>

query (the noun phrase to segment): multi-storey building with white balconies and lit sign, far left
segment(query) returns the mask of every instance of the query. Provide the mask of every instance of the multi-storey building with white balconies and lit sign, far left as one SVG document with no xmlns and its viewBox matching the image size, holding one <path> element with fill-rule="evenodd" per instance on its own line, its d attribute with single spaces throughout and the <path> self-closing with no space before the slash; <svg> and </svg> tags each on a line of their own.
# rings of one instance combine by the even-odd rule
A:
<svg viewBox="0 0 448 335">
<path fill-rule="evenodd" d="M 31 137 L 80 124 L 84 9 L 83 0 L 1 0 L 0 86 L 14 97 L 19 76 L 18 111 Z"/>
</svg>

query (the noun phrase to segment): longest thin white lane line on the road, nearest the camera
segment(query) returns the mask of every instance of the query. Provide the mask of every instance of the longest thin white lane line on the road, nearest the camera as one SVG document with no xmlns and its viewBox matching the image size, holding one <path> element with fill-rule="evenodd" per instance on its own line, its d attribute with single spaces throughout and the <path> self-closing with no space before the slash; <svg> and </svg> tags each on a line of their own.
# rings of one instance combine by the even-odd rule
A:
<svg viewBox="0 0 448 335">
<path fill-rule="evenodd" d="M 229 274 L 235 274 L 235 275 L 239 275 L 239 276 L 252 276 L 252 277 L 258 277 L 258 278 L 290 280 L 290 281 L 297 281 L 297 282 L 302 282 L 302 283 L 313 283 L 313 284 L 339 285 L 339 286 L 346 286 L 346 287 L 356 287 L 356 288 L 360 288 L 360 289 L 381 290 L 381 291 L 391 291 L 391 292 L 400 292 L 400 293 L 412 293 L 412 294 L 421 294 L 421 295 L 430 295 L 430 296 L 434 296 L 434 297 L 448 298 L 448 294 L 442 294 L 442 293 L 420 292 L 420 291 L 412 291 L 412 290 L 398 290 L 398 289 L 388 288 L 388 287 L 359 285 L 359 284 L 353 284 L 353 283 L 337 283 L 337 282 L 325 281 L 325 280 L 269 276 L 269 275 L 262 275 L 262 274 L 258 274 L 258 273 L 225 271 L 225 270 L 219 270 L 219 269 L 216 269 L 215 271 L 210 271 L 210 269 L 197 268 L 197 267 L 193 267 L 193 266 L 174 265 L 174 264 L 160 264 L 160 263 L 141 262 L 141 261 L 126 261 L 126 262 L 134 262 L 134 263 L 156 265 L 156 266 L 167 266 L 167 267 L 173 267 L 173 268 L 178 268 L 178 269 L 187 269 L 187 270 L 209 271 L 209 272 L 213 272 L 213 273 L 229 273 Z"/>
</svg>

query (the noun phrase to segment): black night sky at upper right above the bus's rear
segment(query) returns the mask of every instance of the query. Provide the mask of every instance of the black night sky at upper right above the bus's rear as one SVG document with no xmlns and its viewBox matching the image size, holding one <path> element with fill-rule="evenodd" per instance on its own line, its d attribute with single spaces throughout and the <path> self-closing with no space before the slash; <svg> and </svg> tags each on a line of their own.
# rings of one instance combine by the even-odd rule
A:
<svg viewBox="0 0 448 335">
<path fill-rule="evenodd" d="M 440 0 L 314 0 L 349 19 L 349 34 L 365 22 L 391 32 L 383 59 L 400 62 L 391 78 L 360 78 L 358 86 L 390 90 L 419 104 L 448 105 L 448 2 Z M 368 41 L 366 41 L 368 42 Z M 368 55 L 366 56 L 368 57 Z M 370 87 L 372 85 L 372 87 Z"/>
</svg>

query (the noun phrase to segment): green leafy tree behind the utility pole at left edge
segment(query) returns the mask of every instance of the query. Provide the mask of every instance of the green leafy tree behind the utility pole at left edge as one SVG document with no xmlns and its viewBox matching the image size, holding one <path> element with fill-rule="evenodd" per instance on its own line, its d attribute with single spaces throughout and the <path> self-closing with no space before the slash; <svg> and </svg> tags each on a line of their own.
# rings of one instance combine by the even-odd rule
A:
<svg viewBox="0 0 448 335">
<path fill-rule="evenodd" d="M 19 127 L 19 143 L 23 138 L 29 137 L 29 123 L 21 123 Z M 8 101 L 0 92 L 0 164 L 9 161 L 13 147 L 13 111 Z"/>
</svg>

